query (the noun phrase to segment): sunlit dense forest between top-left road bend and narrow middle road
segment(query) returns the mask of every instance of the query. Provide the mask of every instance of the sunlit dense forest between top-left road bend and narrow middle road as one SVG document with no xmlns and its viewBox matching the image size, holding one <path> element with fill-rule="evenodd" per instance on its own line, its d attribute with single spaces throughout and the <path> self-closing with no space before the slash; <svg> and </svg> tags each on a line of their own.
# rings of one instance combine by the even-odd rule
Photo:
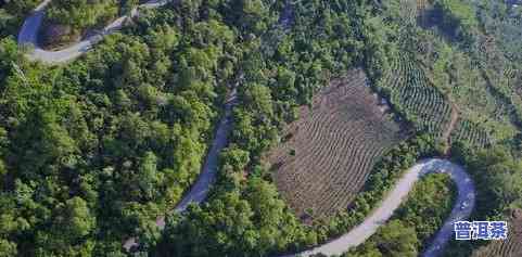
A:
<svg viewBox="0 0 522 257">
<path fill-rule="evenodd" d="M 143 14 L 63 67 L 28 63 L 2 39 L 5 253 L 118 255 L 128 236 L 157 240 L 153 220 L 198 177 L 241 55 L 221 21 L 178 16 Z"/>
</svg>

